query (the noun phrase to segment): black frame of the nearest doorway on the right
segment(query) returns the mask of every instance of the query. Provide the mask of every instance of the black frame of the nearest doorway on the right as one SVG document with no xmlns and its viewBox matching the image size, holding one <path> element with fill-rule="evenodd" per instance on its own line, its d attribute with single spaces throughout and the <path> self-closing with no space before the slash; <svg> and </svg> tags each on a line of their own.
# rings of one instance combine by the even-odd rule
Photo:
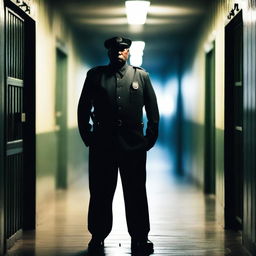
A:
<svg viewBox="0 0 256 256">
<path fill-rule="evenodd" d="M 243 24 L 243 16 L 242 16 L 242 10 L 238 12 L 238 14 L 225 26 L 225 49 L 230 49 L 230 43 L 232 42 L 232 39 L 228 37 L 228 34 L 231 33 L 230 31 L 233 30 L 233 28 L 237 24 Z M 243 47 L 243 46 L 242 46 Z M 233 49 L 233 48 L 232 48 Z M 233 107 L 230 104 L 234 100 L 233 90 L 230 86 L 230 77 L 233 77 L 233 59 L 230 58 L 229 52 L 225 51 L 225 113 L 224 113 L 224 119 L 225 119 L 225 128 L 224 128 L 224 223 L 225 228 L 227 229 L 235 229 L 239 230 L 241 225 L 236 221 L 235 215 L 234 215 L 234 204 L 235 204 L 235 198 L 234 193 L 232 191 L 232 182 L 233 182 L 233 170 L 232 170 L 232 154 L 230 150 L 230 145 L 232 145 L 233 136 L 230 133 L 231 125 L 234 124 L 233 120 Z M 230 68 L 231 67 L 231 68 Z M 233 84 L 232 84 L 233 85 Z M 231 114 L 230 114 L 231 113 Z M 242 177 L 242 182 L 244 182 L 244 179 Z"/>
</svg>

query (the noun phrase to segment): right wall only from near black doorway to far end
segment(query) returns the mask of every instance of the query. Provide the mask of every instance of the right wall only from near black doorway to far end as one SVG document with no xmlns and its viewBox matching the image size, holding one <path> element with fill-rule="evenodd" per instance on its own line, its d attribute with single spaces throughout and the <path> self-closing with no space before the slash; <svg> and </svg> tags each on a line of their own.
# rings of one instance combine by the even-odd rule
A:
<svg viewBox="0 0 256 256">
<path fill-rule="evenodd" d="M 227 10 L 223 9 L 226 6 Z M 232 3 L 212 4 L 210 15 L 188 49 L 182 78 L 184 119 L 183 168 L 200 187 L 204 187 L 205 57 L 209 43 L 215 42 L 215 158 L 216 200 L 224 208 L 224 28 Z M 196 48 L 196 51 L 195 51 Z M 217 211 L 224 225 L 223 210 Z"/>
</svg>

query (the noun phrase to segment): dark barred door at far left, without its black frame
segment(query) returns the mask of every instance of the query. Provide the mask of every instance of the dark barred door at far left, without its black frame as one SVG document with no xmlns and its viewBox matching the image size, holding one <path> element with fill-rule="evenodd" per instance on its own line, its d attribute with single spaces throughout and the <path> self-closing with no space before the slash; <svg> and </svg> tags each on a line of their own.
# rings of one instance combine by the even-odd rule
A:
<svg viewBox="0 0 256 256">
<path fill-rule="evenodd" d="M 6 168 L 5 239 L 7 247 L 23 225 L 24 20 L 6 8 Z"/>
</svg>

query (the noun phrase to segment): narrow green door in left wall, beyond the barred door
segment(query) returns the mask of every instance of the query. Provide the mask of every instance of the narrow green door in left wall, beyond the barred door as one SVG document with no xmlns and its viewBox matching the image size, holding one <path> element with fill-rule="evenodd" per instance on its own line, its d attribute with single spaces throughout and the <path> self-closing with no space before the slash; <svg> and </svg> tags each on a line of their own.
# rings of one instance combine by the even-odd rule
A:
<svg viewBox="0 0 256 256">
<path fill-rule="evenodd" d="M 57 135 L 56 187 L 67 188 L 67 55 L 56 49 L 55 122 Z"/>
</svg>

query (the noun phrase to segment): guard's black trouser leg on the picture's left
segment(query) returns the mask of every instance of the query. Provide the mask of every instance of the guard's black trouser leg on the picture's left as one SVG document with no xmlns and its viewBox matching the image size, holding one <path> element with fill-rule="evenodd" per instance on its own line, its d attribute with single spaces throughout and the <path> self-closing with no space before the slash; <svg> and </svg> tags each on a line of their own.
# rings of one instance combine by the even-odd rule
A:
<svg viewBox="0 0 256 256">
<path fill-rule="evenodd" d="M 90 148 L 88 229 L 92 236 L 100 239 L 106 238 L 112 229 L 112 202 L 117 172 L 113 151 Z"/>
</svg>

